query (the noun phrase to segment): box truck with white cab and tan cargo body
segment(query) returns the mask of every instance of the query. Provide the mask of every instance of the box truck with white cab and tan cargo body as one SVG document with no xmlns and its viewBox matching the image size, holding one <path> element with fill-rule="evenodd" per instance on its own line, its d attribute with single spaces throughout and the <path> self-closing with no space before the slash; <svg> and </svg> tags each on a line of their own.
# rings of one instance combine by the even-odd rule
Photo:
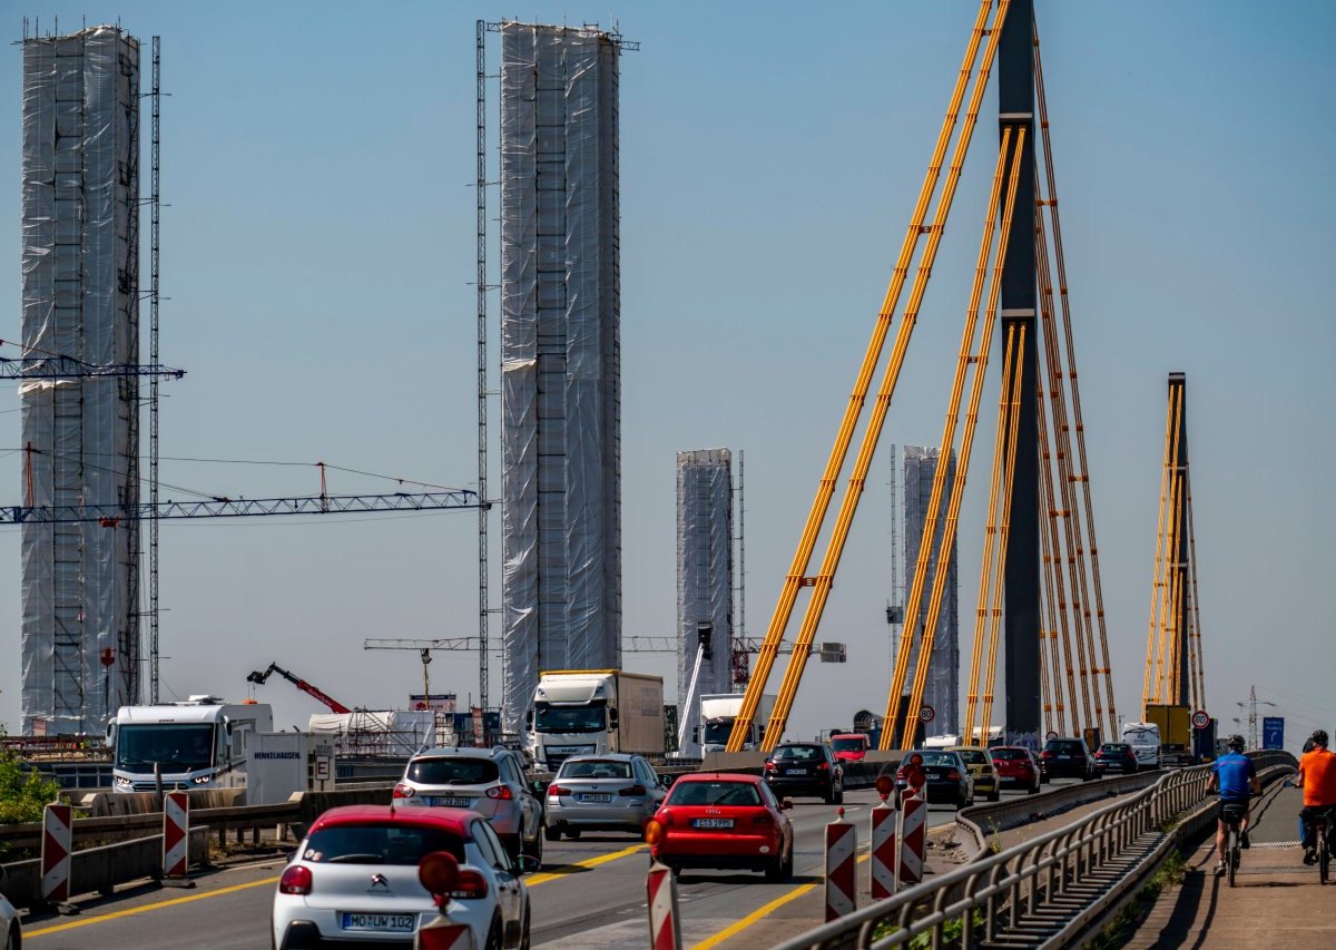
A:
<svg viewBox="0 0 1336 950">
<path fill-rule="evenodd" d="M 556 771 L 572 755 L 633 752 L 664 758 L 664 680 L 621 669 L 538 675 L 526 716 L 534 766 Z"/>
</svg>

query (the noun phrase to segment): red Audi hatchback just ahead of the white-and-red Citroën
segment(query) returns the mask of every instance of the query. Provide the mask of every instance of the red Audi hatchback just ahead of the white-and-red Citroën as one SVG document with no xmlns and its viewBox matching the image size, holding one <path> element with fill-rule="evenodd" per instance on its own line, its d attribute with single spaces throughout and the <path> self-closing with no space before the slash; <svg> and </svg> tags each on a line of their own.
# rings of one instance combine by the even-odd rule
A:
<svg viewBox="0 0 1336 950">
<path fill-rule="evenodd" d="M 693 772 L 672 783 L 645 826 L 655 860 L 684 867 L 764 871 L 768 881 L 794 873 L 792 803 L 775 799 L 759 775 Z"/>
</svg>

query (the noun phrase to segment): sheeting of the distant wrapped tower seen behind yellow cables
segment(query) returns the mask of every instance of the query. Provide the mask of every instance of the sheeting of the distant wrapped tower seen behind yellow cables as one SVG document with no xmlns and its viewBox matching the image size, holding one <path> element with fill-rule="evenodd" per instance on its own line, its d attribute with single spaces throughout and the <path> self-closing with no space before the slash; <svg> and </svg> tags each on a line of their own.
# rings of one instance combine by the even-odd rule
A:
<svg viewBox="0 0 1336 950">
<path fill-rule="evenodd" d="M 914 568 L 918 563 L 919 538 L 923 537 L 923 522 L 927 514 L 927 504 L 933 497 L 933 474 L 941 458 L 941 449 L 923 449 L 914 445 L 904 446 L 904 589 L 914 585 Z M 927 577 L 923 579 L 923 601 L 919 605 L 919 616 L 912 623 L 906 619 L 904 633 L 922 631 L 927 624 L 929 593 L 933 591 L 933 581 L 937 575 L 938 555 L 945 530 L 946 509 L 951 501 L 951 481 L 955 477 L 955 456 L 951 456 L 946 472 L 946 490 L 942 493 L 942 516 L 937 521 L 937 537 L 934 538 L 934 555 L 927 567 Z M 961 621 L 959 621 L 959 572 L 957 571 L 955 546 L 946 561 L 946 592 L 942 599 L 942 612 L 937 620 L 937 637 L 933 644 L 933 656 L 929 661 L 927 685 L 923 689 L 923 701 L 933 707 L 935 716 L 929 726 L 929 732 L 945 734 L 959 732 L 961 730 Z M 912 681 L 919 664 L 919 647 L 922 637 L 915 636 L 914 652 L 911 655 L 910 679 Z"/>
</svg>

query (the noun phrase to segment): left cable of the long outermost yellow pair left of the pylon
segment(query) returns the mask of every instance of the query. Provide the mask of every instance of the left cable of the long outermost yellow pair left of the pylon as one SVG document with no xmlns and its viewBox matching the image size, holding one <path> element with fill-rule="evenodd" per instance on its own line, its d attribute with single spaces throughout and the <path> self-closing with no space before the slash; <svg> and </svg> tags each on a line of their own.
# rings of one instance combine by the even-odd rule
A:
<svg viewBox="0 0 1336 950">
<path fill-rule="evenodd" d="M 895 314 L 900 291 L 904 287 L 904 281 L 908 275 L 910 262 L 914 258 L 914 250 L 918 246 L 919 235 L 923 232 L 923 220 L 927 216 L 927 207 L 933 200 L 933 194 L 937 191 L 937 183 L 942 172 L 942 159 L 946 155 L 946 147 L 951 140 L 951 132 L 955 130 L 955 124 L 959 118 L 961 102 L 965 98 L 965 88 L 969 86 L 970 76 L 974 72 L 974 60 L 978 57 L 979 43 L 986 32 L 985 25 L 987 24 L 987 16 L 991 5 L 991 0 L 982 0 L 979 4 L 979 12 L 974 23 L 974 29 L 970 32 L 970 40 L 966 45 L 965 60 L 961 64 L 959 76 L 957 77 L 955 87 L 951 91 L 951 100 L 947 106 L 946 116 L 942 120 L 942 128 L 938 132 L 937 144 L 933 148 L 933 158 L 929 162 L 927 175 L 923 179 L 923 187 L 919 190 L 918 203 L 914 206 L 914 214 L 910 218 L 910 226 L 906 231 L 904 242 L 900 246 L 900 255 L 896 259 L 890 286 L 887 287 L 886 297 L 882 301 L 882 309 L 878 313 L 876 325 L 872 329 L 872 338 L 867 345 L 867 353 L 863 357 L 863 365 L 859 369 L 854 391 L 850 394 L 848 406 L 844 410 L 844 418 L 835 438 L 835 445 L 831 449 L 826 472 L 823 473 L 820 484 L 816 488 L 816 497 L 812 500 L 812 508 L 807 516 L 807 525 L 804 526 L 803 536 L 798 542 L 798 549 L 794 552 L 794 560 L 788 568 L 788 575 L 784 579 L 784 587 L 780 591 L 779 603 L 775 605 L 775 613 L 766 631 L 766 640 L 762 643 L 760 653 L 756 657 L 756 665 L 752 669 L 751 680 L 747 684 L 741 708 L 739 709 L 737 719 L 733 722 L 733 731 L 728 738 L 729 752 L 741 750 L 743 743 L 747 740 L 751 731 L 752 720 L 756 716 L 756 707 L 760 704 L 760 697 L 766 692 L 766 683 L 770 679 L 771 668 L 774 667 L 775 657 L 779 653 L 779 645 L 784 639 L 784 629 L 788 627 L 788 620 L 792 616 L 794 604 L 798 600 L 798 591 L 803 585 L 803 575 L 807 571 L 807 565 L 811 563 L 812 550 L 816 546 L 816 538 L 826 521 L 826 512 L 835 494 L 835 482 L 839 478 L 840 470 L 844 468 L 844 460 L 848 456 L 848 446 L 854 438 L 854 428 L 856 426 L 858 418 L 863 412 L 863 404 L 867 400 L 867 393 L 872 383 L 872 374 L 876 371 L 876 365 L 882 359 L 882 350 L 886 345 L 886 337 L 890 333 L 891 318 Z M 1001 23 L 1001 20 L 998 23 Z M 994 44 L 990 43 L 990 49 L 993 45 Z M 949 174 L 949 179 L 958 175 L 959 170 L 953 167 Z"/>
</svg>

